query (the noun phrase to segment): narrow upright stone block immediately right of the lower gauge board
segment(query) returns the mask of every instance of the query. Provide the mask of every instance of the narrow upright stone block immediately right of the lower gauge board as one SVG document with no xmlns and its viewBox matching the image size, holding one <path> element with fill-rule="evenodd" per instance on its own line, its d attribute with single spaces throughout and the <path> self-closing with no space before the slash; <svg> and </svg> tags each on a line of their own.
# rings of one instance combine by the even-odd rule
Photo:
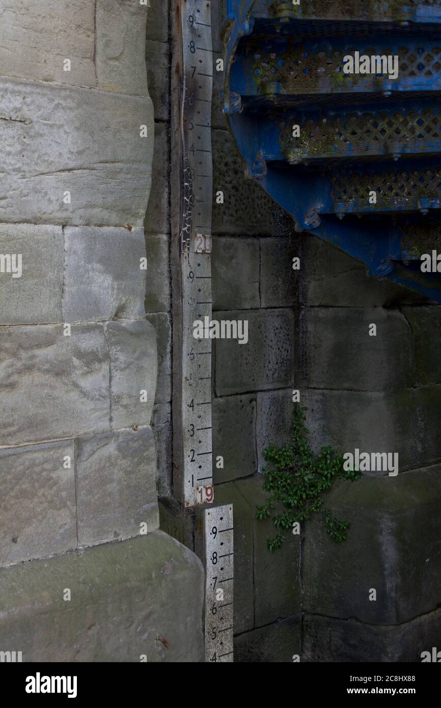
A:
<svg viewBox="0 0 441 708">
<path fill-rule="evenodd" d="M 254 627 L 253 514 L 233 482 L 216 485 L 214 503 L 233 504 L 234 519 L 234 633 Z"/>
</svg>

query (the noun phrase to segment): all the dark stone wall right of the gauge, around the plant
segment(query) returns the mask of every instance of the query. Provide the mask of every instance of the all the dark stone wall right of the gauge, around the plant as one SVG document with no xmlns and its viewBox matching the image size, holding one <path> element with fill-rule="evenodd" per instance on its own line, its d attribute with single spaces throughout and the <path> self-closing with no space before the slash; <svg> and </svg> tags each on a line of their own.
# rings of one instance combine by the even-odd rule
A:
<svg viewBox="0 0 441 708">
<path fill-rule="evenodd" d="M 215 499 L 234 503 L 235 661 L 420 661 L 441 632 L 440 307 L 294 234 L 244 178 L 222 78 L 214 72 L 214 191 L 225 199 L 213 205 L 213 310 L 249 326 L 248 345 L 215 341 L 213 358 Z M 272 529 L 254 518 L 262 452 L 290 440 L 294 387 L 315 450 L 398 452 L 399 474 L 336 484 L 327 503 L 350 521 L 345 543 L 315 519 L 270 554 Z M 188 525 L 177 529 L 191 542 Z"/>
</svg>

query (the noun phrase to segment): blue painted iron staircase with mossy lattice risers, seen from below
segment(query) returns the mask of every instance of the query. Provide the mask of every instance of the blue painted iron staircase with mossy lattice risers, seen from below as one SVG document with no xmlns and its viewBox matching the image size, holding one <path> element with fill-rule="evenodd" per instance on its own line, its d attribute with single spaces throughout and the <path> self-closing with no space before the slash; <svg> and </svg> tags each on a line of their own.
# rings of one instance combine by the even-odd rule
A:
<svg viewBox="0 0 441 708">
<path fill-rule="evenodd" d="M 441 0 L 227 0 L 227 12 L 224 112 L 250 178 L 297 231 L 441 302 L 441 274 L 420 268 L 441 253 Z M 355 52 L 398 57 L 398 76 L 345 74 Z"/>
</svg>

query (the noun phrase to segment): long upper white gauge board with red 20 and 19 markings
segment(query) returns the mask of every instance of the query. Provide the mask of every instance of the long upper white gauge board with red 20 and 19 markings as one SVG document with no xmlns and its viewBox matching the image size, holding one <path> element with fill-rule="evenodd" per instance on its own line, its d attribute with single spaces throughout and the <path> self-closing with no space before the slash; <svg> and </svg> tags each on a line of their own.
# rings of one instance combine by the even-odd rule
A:
<svg viewBox="0 0 441 708">
<path fill-rule="evenodd" d="M 211 503 L 212 340 L 195 339 L 195 321 L 211 320 L 212 30 L 210 2 L 181 3 L 182 134 L 182 486 L 185 506 Z"/>
</svg>

